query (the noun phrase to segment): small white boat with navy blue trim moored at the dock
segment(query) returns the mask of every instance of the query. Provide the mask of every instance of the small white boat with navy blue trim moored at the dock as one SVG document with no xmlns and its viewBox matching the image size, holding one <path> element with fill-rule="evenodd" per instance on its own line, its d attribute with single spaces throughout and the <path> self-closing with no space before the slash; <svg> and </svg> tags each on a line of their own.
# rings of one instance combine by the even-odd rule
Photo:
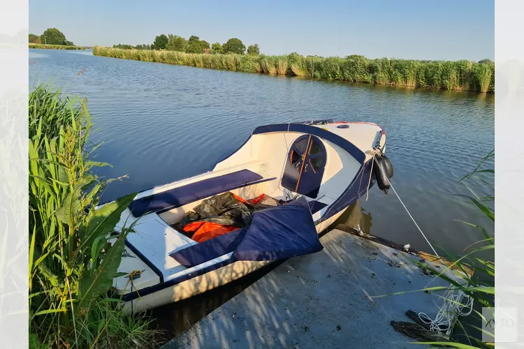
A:
<svg viewBox="0 0 524 349">
<path fill-rule="evenodd" d="M 320 251 L 319 233 L 378 183 L 393 176 L 377 124 L 309 121 L 256 128 L 213 170 L 136 195 L 119 227 L 137 221 L 112 288 L 124 311 L 136 313 L 217 288 L 275 260 Z M 196 242 L 182 218 L 214 195 L 249 200 L 265 194 L 275 205 L 251 223 Z"/>
</svg>

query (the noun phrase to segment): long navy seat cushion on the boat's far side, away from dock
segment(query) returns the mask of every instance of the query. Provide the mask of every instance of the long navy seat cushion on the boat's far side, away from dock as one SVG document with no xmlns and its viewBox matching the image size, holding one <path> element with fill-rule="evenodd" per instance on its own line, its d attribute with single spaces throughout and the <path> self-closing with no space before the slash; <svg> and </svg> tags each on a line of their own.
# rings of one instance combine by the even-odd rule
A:
<svg viewBox="0 0 524 349">
<path fill-rule="evenodd" d="M 133 200 L 131 205 L 129 205 L 129 209 L 135 217 L 140 217 L 150 212 L 160 214 L 196 200 L 224 193 L 225 191 L 232 191 L 233 189 L 273 179 L 276 178 L 265 178 L 251 170 L 238 170 Z"/>
</svg>

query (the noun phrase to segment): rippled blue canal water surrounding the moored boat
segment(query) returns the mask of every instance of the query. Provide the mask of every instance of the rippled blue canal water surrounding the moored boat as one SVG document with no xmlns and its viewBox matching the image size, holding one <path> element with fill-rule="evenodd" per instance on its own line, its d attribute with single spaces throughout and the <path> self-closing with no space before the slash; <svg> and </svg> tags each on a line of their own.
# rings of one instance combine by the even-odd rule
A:
<svg viewBox="0 0 524 349">
<path fill-rule="evenodd" d="M 99 128 L 92 141 L 103 141 L 96 160 L 112 164 L 99 175 L 129 176 L 113 182 L 102 200 L 211 170 L 262 124 L 371 121 L 386 131 L 392 184 L 432 244 L 460 254 L 483 239 L 459 221 L 493 232 L 493 224 L 458 195 L 469 193 L 460 177 L 495 147 L 490 94 L 234 73 L 95 57 L 91 51 L 29 50 L 29 87 L 37 84 L 87 97 Z M 470 185 L 489 193 L 478 182 Z M 372 188 L 359 206 L 365 232 L 430 252 L 392 191 L 384 195 Z M 349 224 L 348 217 L 337 223 Z M 163 326 L 180 332 L 256 277 L 161 309 Z"/>
</svg>

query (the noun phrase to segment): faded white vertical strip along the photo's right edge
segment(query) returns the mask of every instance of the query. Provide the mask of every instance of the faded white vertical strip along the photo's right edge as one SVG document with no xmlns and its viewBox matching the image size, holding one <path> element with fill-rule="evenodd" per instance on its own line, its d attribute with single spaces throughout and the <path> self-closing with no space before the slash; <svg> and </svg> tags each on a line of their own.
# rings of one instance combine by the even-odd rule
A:
<svg viewBox="0 0 524 349">
<path fill-rule="evenodd" d="M 516 341 L 505 338 L 505 328 L 495 326 L 495 344 L 504 348 L 524 343 L 522 13 L 523 1 L 495 1 L 495 310 L 514 309 L 518 320 Z"/>
</svg>

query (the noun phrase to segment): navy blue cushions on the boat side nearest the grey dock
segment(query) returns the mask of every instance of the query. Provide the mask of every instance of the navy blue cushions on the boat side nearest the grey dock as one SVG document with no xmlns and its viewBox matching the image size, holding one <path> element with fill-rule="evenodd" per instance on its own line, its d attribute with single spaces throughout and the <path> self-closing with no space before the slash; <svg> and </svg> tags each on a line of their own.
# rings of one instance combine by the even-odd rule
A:
<svg viewBox="0 0 524 349">
<path fill-rule="evenodd" d="M 321 251 L 319 235 L 305 198 L 254 213 L 248 227 L 172 253 L 194 267 L 233 252 L 232 260 L 279 260 Z"/>
</svg>

